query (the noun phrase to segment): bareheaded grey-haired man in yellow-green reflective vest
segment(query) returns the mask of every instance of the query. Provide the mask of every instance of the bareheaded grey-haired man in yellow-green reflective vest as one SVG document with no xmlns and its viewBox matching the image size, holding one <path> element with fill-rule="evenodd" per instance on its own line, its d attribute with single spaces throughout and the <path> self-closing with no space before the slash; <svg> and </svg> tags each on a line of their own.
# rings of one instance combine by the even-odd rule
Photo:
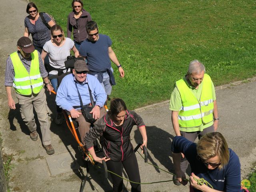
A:
<svg viewBox="0 0 256 192">
<path fill-rule="evenodd" d="M 198 60 L 190 62 L 186 76 L 175 83 L 170 98 L 172 126 L 176 136 L 194 142 L 218 128 L 218 108 L 214 85 L 204 65 Z M 188 161 L 182 154 L 180 168 L 186 172 Z M 174 184 L 180 185 L 173 177 Z"/>
</svg>

